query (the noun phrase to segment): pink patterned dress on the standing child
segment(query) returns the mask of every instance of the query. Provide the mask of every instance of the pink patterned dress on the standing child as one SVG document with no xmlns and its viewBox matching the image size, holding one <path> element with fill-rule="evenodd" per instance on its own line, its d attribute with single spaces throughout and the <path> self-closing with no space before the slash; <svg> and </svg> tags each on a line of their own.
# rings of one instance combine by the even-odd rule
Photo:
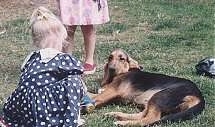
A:
<svg viewBox="0 0 215 127">
<path fill-rule="evenodd" d="M 110 20 L 107 0 L 59 0 L 65 25 L 103 24 Z"/>
</svg>

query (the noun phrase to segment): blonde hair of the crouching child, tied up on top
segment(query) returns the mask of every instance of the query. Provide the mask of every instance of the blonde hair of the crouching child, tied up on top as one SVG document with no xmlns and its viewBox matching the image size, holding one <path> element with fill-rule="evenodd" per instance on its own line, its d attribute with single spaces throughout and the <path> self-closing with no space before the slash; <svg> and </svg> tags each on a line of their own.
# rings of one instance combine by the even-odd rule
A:
<svg viewBox="0 0 215 127">
<path fill-rule="evenodd" d="M 39 7 L 34 10 L 30 25 L 33 45 L 38 48 L 63 46 L 66 43 L 67 31 L 61 21 L 48 9 Z"/>
</svg>

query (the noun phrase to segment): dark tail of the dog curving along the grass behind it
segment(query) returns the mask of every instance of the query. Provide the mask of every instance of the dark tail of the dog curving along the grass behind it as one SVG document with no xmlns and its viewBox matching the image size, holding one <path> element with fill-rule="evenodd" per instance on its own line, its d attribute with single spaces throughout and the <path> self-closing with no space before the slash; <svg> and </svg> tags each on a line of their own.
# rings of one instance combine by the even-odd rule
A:
<svg viewBox="0 0 215 127">
<path fill-rule="evenodd" d="M 165 123 L 168 121 L 169 122 L 177 122 L 180 120 L 189 120 L 189 119 L 193 118 L 194 116 L 200 114 L 204 108 L 205 108 L 205 100 L 203 99 L 203 97 L 201 97 L 200 102 L 197 105 L 195 105 L 195 106 L 193 106 L 187 110 L 184 110 L 182 112 L 178 112 L 175 114 L 170 114 L 170 115 L 164 116 L 161 118 L 161 120 L 154 122 L 150 125 L 147 125 L 146 127 L 150 127 L 150 126 L 153 126 L 155 124 Z"/>
</svg>

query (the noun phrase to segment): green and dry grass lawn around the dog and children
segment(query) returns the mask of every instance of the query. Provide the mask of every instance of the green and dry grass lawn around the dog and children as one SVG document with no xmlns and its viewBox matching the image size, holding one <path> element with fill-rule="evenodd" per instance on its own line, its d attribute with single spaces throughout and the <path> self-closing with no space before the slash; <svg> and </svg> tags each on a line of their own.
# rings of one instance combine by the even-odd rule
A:
<svg viewBox="0 0 215 127">
<path fill-rule="evenodd" d="M 108 54 L 122 48 L 145 70 L 184 77 L 195 82 L 206 99 L 206 109 L 193 120 L 167 123 L 162 127 L 213 127 L 215 125 L 214 79 L 195 74 L 195 65 L 215 56 L 213 0 L 115 0 L 109 1 L 111 21 L 97 27 L 95 59 L 98 69 L 84 80 L 90 90 L 99 87 Z M 31 37 L 26 18 L 2 23 L 0 35 L 0 108 L 19 80 L 19 67 L 30 52 Z M 76 41 L 83 42 L 80 30 Z M 74 55 L 83 60 L 83 43 Z M 108 111 L 138 112 L 135 105 L 108 105 L 84 115 L 88 127 L 111 127 Z M 0 110 L 1 112 L 1 110 Z"/>
</svg>

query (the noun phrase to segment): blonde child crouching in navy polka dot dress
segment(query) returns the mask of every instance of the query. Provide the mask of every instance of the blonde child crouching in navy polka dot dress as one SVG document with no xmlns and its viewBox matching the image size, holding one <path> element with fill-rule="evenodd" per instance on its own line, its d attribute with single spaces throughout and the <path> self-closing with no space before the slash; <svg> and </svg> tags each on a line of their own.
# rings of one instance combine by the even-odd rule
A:
<svg viewBox="0 0 215 127">
<path fill-rule="evenodd" d="M 33 12 L 31 27 L 33 45 L 39 50 L 25 59 L 18 87 L 4 105 L 2 123 L 11 127 L 76 127 L 80 101 L 86 94 L 80 61 L 61 52 L 66 29 L 44 7 Z"/>
</svg>

